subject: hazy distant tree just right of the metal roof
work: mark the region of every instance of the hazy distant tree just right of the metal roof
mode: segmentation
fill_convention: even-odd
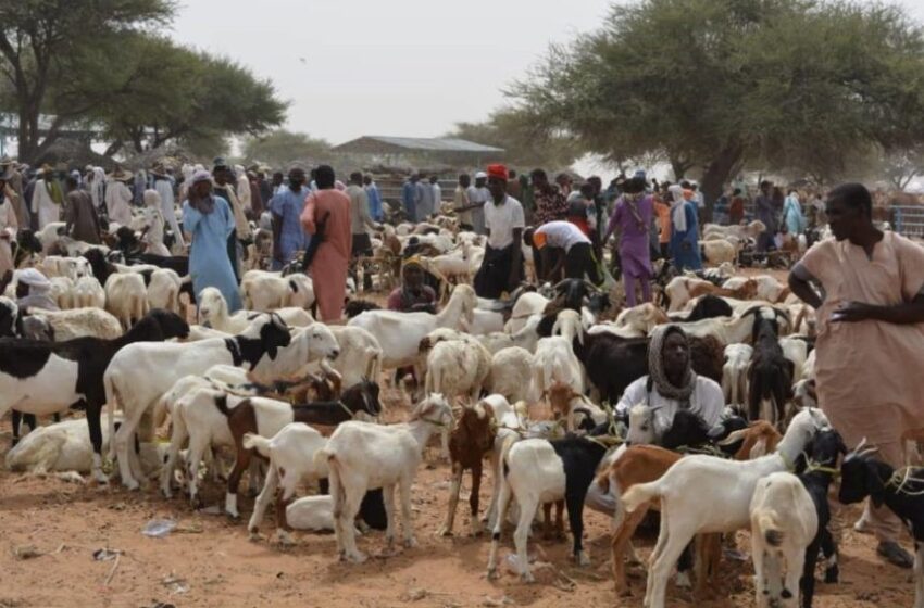
[[[519,167],[565,168],[580,151],[570,138],[546,131],[528,116],[501,110],[484,123],[458,123],[446,137],[504,149],[504,160]]]

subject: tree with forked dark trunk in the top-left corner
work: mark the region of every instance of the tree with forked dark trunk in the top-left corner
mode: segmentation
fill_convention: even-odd
[[[173,0],[0,0],[0,72],[11,85],[18,115],[20,156],[30,161],[40,155],[68,122],[102,100],[105,91],[100,89],[80,96],[82,103],[49,100],[57,83],[78,75],[75,60],[83,50],[103,48],[114,35],[165,23],[173,12]],[[107,59],[117,63],[118,55]],[[39,115],[50,105],[57,114],[42,138]]]

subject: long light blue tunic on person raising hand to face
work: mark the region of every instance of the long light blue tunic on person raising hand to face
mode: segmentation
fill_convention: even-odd
[[[189,275],[192,289],[198,296],[207,287],[222,292],[228,303],[228,312],[240,309],[240,294],[234,269],[228,258],[228,237],[234,232],[234,214],[230,205],[221,197],[213,197],[215,208],[203,215],[189,201],[183,203],[183,229],[192,235],[189,250]]]

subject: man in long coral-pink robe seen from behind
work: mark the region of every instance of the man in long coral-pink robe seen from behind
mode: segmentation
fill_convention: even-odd
[[[314,296],[323,322],[339,322],[347,295],[347,269],[350,263],[352,233],[350,229],[350,198],[335,189],[334,169],[317,167],[317,190],[305,199],[301,225],[312,235],[309,251],[316,248],[308,268],[314,282]]]

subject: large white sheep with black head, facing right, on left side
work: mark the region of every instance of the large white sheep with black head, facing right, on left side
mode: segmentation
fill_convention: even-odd
[[[269,314],[257,318],[247,331],[232,338],[202,340],[189,343],[129,344],[112,358],[103,376],[110,432],[113,432],[113,411],[121,405],[125,421],[113,433],[110,452],[118,455],[122,484],[137,490],[132,474],[129,440],[139,423],[150,418],[150,409],[164,392],[183,376],[202,373],[214,365],[248,365],[252,370],[263,355],[275,359],[280,347],[289,345],[291,335],[278,316]],[[148,425],[146,425],[147,427]],[[148,430],[148,429],[146,429]],[[130,452],[134,456],[134,451]]]

